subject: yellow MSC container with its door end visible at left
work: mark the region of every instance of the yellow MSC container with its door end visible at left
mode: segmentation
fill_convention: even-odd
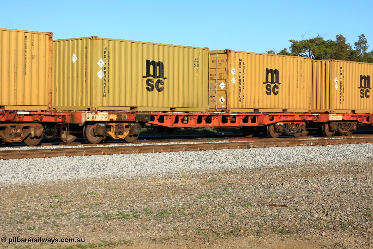
[[[209,109],[308,112],[311,59],[231,50],[210,51]]]

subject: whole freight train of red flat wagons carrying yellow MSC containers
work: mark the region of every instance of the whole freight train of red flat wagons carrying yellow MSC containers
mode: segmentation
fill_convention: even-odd
[[[0,28],[0,141],[134,142],[145,127],[308,129],[373,123],[373,64]]]

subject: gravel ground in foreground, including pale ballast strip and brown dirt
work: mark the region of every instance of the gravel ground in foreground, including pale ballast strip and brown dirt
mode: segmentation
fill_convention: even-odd
[[[373,248],[372,147],[2,160],[0,235],[85,238],[76,248]],[[70,244],[2,246],[15,245]]]

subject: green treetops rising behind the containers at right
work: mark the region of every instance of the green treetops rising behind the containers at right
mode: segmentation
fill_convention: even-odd
[[[339,34],[333,40],[324,40],[322,36],[309,39],[289,40],[289,48],[284,48],[280,52],[269,50],[269,54],[293,55],[302,57],[311,57],[313,60],[336,59],[343,61],[358,61],[373,63],[373,50],[367,52],[368,41],[364,34],[358,37],[352,49],[350,43],[342,34]]]

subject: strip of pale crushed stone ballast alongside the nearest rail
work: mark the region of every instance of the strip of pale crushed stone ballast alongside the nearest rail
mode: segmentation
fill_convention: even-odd
[[[114,146],[114,145],[113,145]],[[255,148],[0,161],[0,184],[35,183],[106,176],[154,176],[183,171],[248,169],[373,158],[373,144]]]

